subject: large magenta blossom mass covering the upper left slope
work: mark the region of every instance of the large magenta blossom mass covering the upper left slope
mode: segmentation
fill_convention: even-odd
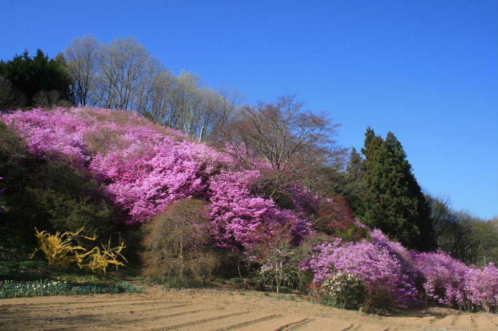
[[[203,198],[210,202],[212,234],[219,246],[250,247],[281,225],[289,226],[295,243],[311,231],[302,211],[282,209],[253,193],[261,191],[260,170],[271,168],[253,155],[246,156],[252,170],[242,171],[233,155],[189,141],[133,112],[38,108],[2,119],[26,139],[34,155],[67,160],[95,176],[128,214],[126,224],[144,223],[182,198]],[[306,203],[303,194],[295,198],[297,207]]]

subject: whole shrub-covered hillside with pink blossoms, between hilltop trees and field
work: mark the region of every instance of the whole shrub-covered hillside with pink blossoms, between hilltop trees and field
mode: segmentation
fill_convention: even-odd
[[[143,273],[159,283],[238,275],[349,309],[498,305],[492,263],[469,267],[440,250],[408,250],[352,216],[337,217],[341,200],[299,177],[269,194],[280,163],[247,154],[242,143],[217,149],[102,108],[37,108],[2,120],[2,227],[12,234],[2,245],[14,251],[2,259],[27,258],[34,228],[84,226],[87,236],[126,241],[125,253],[137,264],[141,256]],[[243,162],[234,157],[241,153]]]

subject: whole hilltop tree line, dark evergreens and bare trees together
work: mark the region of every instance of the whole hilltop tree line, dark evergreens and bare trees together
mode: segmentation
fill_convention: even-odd
[[[154,122],[205,139],[225,125],[243,96],[202,85],[198,75],[175,76],[134,38],[108,45],[91,35],[74,39],[49,59],[42,50],[0,62],[0,108],[56,105],[133,109]]]

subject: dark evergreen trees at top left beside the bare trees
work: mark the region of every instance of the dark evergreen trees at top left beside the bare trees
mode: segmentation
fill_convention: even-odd
[[[71,99],[71,79],[62,55],[49,59],[38,49],[36,56],[30,57],[25,50],[22,55],[16,54],[12,60],[0,61],[0,76],[21,91],[30,105],[34,105],[41,91],[56,91],[60,99]]]

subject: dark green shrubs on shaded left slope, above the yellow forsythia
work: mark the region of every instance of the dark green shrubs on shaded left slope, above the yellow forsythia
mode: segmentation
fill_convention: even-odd
[[[0,122],[0,260],[26,258],[36,242],[33,228],[109,237],[115,213],[97,182],[60,160],[32,156],[12,128]],[[77,239],[79,245],[87,243]],[[24,257],[23,257],[24,256]]]

